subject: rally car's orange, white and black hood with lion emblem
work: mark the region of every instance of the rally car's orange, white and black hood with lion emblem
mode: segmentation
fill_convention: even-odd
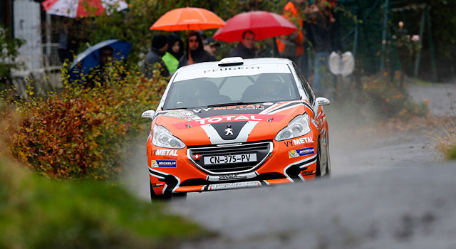
[[[166,127],[187,146],[274,139],[277,132],[306,112],[304,100],[157,112],[155,124]],[[313,115],[311,115],[313,116]]]

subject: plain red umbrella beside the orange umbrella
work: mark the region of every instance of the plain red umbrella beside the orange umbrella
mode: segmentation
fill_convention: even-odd
[[[275,36],[293,33],[298,28],[284,16],[266,11],[250,11],[229,18],[223,28],[214,34],[214,39],[229,43],[242,40],[242,33],[250,30],[255,33],[255,40],[261,41]]]

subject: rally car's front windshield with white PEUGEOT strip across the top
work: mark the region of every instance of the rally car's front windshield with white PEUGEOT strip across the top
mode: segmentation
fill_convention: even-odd
[[[293,75],[288,66],[280,66],[283,66],[280,70],[274,68],[267,70],[268,73],[254,70],[247,73],[217,72],[208,75],[211,77],[200,78],[177,75],[167,93],[164,110],[298,100]]]

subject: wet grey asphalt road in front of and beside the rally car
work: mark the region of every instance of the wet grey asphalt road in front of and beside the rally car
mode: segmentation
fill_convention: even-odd
[[[415,91],[434,101],[429,89]],[[219,233],[181,248],[456,248],[456,163],[435,162],[427,131],[353,137],[343,120],[328,120],[331,179],[171,201],[172,213]],[[145,169],[125,179],[149,198]]]

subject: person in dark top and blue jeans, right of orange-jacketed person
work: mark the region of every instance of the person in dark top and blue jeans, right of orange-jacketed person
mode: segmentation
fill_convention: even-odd
[[[331,34],[336,21],[329,9],[329,3],[324,0],[316,0],[310,7],[311,32],[314,36],[314,85],[316,92],[322,93],[321,78],[328,68],[329,53],[333,51]]]

